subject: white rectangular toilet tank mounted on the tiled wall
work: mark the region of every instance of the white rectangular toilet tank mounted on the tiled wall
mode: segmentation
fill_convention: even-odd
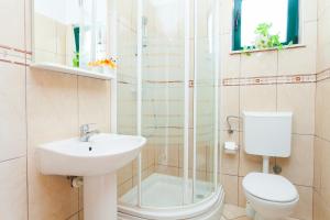
[[[288,157],[292,152],[292,112],[243,112],[248,154]]]

